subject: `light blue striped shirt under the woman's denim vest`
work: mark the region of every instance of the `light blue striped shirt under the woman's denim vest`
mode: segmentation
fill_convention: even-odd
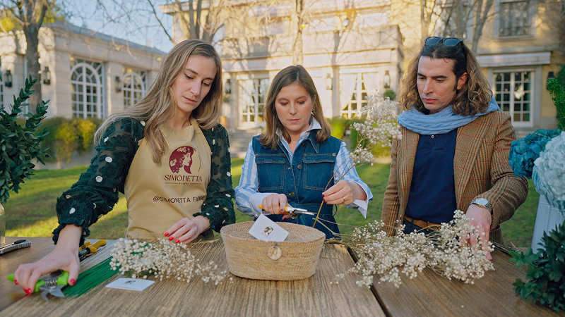
[[[309,128],[300,135],[295,149],[298,148],[300,143],[307,139],[311,130],[319,129],[321,129],[320,123],[316,119],[312,118],[312,123]],[[287,159],[292,162],[293,152],[290,150],[288,142],[281,137],[280,143],[283,145],[283,152],[287,156]],[[365,194],[367,194],[367,199],[357,199],[353,201],[352,204],[347,205],[347,207],[357,208],[359,212],[367,218],[367,205],[369,204],[369,201],[373,199],[373,194],[371,193],[369,186],[367,186],[367,184],[359,178],[357,170],[355,170],[355,166],[353,165],[354,163],[351,159],[350,151],[347,150],[345,142],[342,141],[338,155],[335,157],[335,165],[333,167],[333,175],[335,175],[334,182],[338,182],[340,175],[343,175],[343,178],[341,178],[342,180],[346,180],[347,182],[356,182],[359,186],[361,186]],[[263,198],[270,194],[273,193],[258,192],[257,164],[255,163],[253,140],[251,140],[251,142],[249,142],[249,147],[247,147],[245,160],[242,166],[242,177],[239,178],[239,185],[235,187],[235,204],[237,209],[243,213],[246,213],[249,216],[258,217],[261,214],[261,209],[258,205],[261,204]]]

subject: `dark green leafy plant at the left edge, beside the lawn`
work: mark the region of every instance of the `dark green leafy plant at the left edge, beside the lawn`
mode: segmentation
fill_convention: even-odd
[[[47,151],[41,147],[45,132],[35,133],[41,120],[47,113],[47,102],[41,101],[35,113],[25,115],[25,125],[18,124],[18,113],[21,106],[33,93],[31,87],[37,82],[31,76],[25,79],[18,97],[13,97],[13,106],[8,113],[4,106],[0,107],[0,203],[10,197],[9,191],[18,192],[24,178],[30,178],[35,165],[32,159],[43,163]]]

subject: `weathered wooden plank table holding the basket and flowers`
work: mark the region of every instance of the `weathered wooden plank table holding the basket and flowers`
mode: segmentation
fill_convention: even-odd
[[[17,240],[8,237],[7,242]],[[414,280],[403,278],[396,289],[390,284],[375,284],[371,290],[355,285],[350,276],[335,281],[335,273],[353,264],[345,247],[330,244],[322,251],[316,274],[296,281],[248,280],[233,276],[232,282],[206,284],[155,282],[143,292],[114,290],[99,285],[78,299],[51,298],[44,302],[39,294],[25,293],[5,276],[19,263],[40,259],[53,244],[48,238],[28,238],[32,247],[0,256],[1,316],[551,316],[549,309],[530,304],[514,295],[512,283],[523,272],[509,262],[509,256],[495,251],[497,271],[475,282],[441,278],[424,271]],[[113,242],[83,261],[86,270],[106,259]],[[210,260],[227,269],[221,242],[200,244],[191,251],[205,262]],[[111,279],[112,280],[112,279]]]

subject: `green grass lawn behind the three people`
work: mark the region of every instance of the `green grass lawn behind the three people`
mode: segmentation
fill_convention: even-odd
[[[242,173],[242,159],[232,161],[234,187]],[[6,208],[6,235],[19,237],[50,237],[57,226],[55,202],[65,189],[78,179],[85,166],[68,170],[37,170],[30,180],[26,180],[18,194],[11,194]],[[367,221],[381,218],[383,192],[388,180],[388,164],[361,166],[359,175],[369,184],[374,194],[369,204],[367,220],[354,209],[338,209],[336,219],[342,232],[350,232],[353,227]],[[514,217],[502,225],[504,241],[513,242],[516,247],[529,247],[532,239],[537,200],[540,195],[530,182],[528,200],[516,211]],[[251,220],[249,216],[236,211],[237,221]],[[124,236],[127,226],[126,201],[120,197],[114,211],[98,220],[90,227],[91,237],[115,239]]]

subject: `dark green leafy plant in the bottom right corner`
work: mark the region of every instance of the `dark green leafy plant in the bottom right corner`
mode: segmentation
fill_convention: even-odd
[[[511,261],[516,266],[526,266],[526,278],[516,280],[516,294],[554,311],[565,309],[565,222],[549,232],[544,232],[542,249],[534,254],[512,252]]]

